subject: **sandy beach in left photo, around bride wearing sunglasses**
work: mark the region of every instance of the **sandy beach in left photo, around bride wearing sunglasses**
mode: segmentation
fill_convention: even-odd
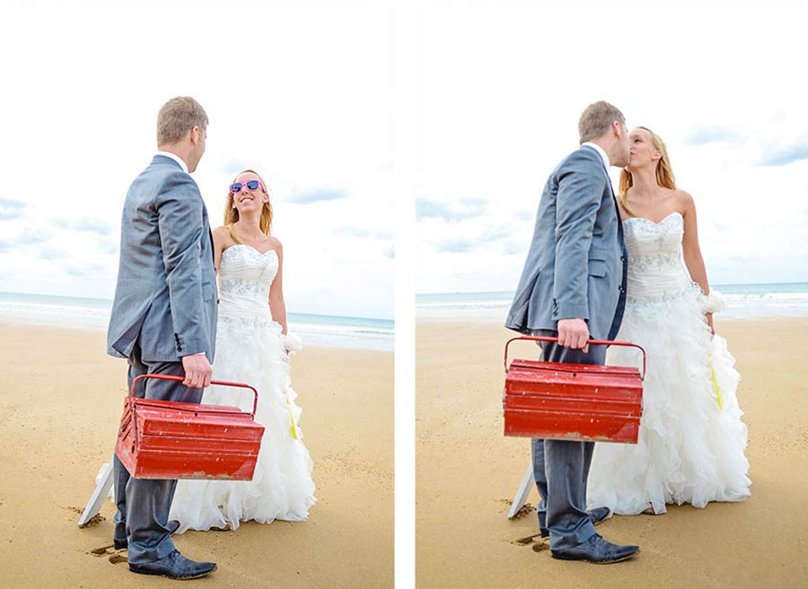
[[[130,573],[111,548],[111,502],[79,529],[79,512],[110,460],[126,394],[126,361],[105,334],[0,324],[0,585],[174,586]],[[175,536],[218,570],[209,587],[388,588],[393,585],[393,356],[306,349],[293,360],[317,505],[302,523],[242,524]],[[125,556],[125,553],[123,553]]]

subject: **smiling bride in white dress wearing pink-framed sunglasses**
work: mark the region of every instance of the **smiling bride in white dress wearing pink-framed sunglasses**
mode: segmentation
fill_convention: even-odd
[[[300,344],[286,333],[283,249],[269,235],[271,221],[264,181],[243,171],[231,185],[224,227],[214,231],[219,320],[213,377],[255,386],[255,420],[266,429],[252,481],[178,481],[171,519],[180,521],[180,533],[234,530],[248,520],[302,521],[314,505],[312,459],[303,446],[301,409],[289,377],[289,355]],[[253,396],[211,385],[202,403],[251,411]]]

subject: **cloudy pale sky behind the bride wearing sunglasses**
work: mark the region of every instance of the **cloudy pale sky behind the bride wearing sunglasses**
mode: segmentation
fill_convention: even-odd
[[[238,171],[267,181],[287,310],[392,317],[388,13],[221,4],[4,7],[0,290],[113,297],[127,187],[189,95],[212,226]]]

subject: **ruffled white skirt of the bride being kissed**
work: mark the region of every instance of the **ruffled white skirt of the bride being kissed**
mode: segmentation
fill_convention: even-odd
[[[660,514],[670,503],[705,507],[750,494],[740,376],[704,310],[697,285],[669,299],[627,303],[617,339],[648,355],[639,436],[637,445],[595,445],[588,507],[634,515],[650,505]],[[642,357],[613,346],[606,362],[641,367]]]

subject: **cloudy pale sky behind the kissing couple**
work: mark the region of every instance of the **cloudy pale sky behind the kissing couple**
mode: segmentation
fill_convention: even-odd
[[[417,292],[514,290],[596,100],[662,136],[710,282],[808,282],[805,4],[629,4],[423,13]]]

